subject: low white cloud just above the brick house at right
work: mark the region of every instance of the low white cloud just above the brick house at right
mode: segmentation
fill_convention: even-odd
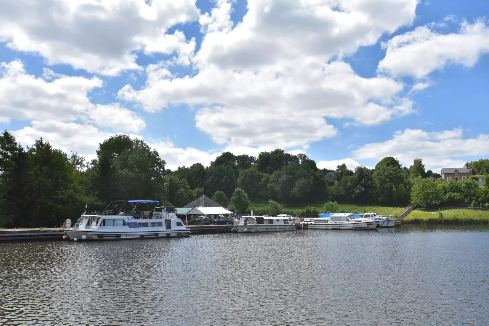
[[[352,153],[355,159],[392,156],[405,166],[414,159],[423,159],[426,169],[436,172],[442,167],[463,166],[464,157],[489,155],[489,134],[463,139],[461,128],[440,132],[405,129],[396,132],[391,140],[365,144]]]

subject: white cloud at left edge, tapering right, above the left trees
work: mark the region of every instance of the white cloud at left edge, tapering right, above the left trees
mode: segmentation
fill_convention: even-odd
[[[93,77],[70,77],[44,70],[44,78],[26,73],[15,60],[0,64],[0,118],[36,121],[76,121],[82,119],[115,131],[138,132],[146,127],[134,112],[118,103],[92,104],[88,93],[102,87]]]

